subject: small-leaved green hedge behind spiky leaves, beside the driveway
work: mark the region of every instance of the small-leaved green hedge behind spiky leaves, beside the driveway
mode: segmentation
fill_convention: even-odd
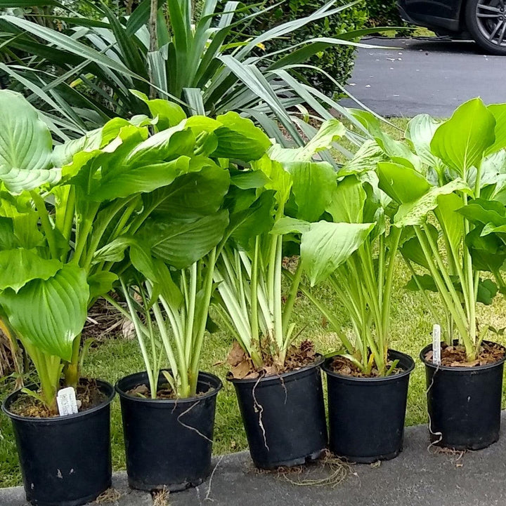
[[[345,0],[338,0],[336,5],[345,5],[346,3],[348,2]],[[278,0],[266,0],[265,6],[274,4],[278,4]],[[304,18],[324,4],[325,1],[323,0],[285,0],[277,8],[259,15],[250,29],[252,30],[252,34],[262,33],[281,22]],[[368,12],[364,1],[361,4],[344,9],[344,11],[337,15],[309,23],[295,34],[292,34],[290,38],[278,39],[275,44],[271,42],[265,49],[267,53],[271,53],[272,51],[297,44],[297,42],[307,39],[334,37],[354,29],[361,29],[367,25],[367,22]],[[351,75],[354,55],[355,51],[351,46],[333,46],[311,58],[308,64],[325,70],[325,72],[344,85]],[[335,84],[316,70],[301,69],[300,74],[309,84],[326,95],[335,95],[338,92]]]

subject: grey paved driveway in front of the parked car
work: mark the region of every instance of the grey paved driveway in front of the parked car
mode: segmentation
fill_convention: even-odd
[[[470,42],[368,39],[381,49],[360,48],[347,89],[382,116],[422,112],[448,117],[460,103],[480,96],[506,102],[506,56],[488,56]],[[358,107],[342,100],[346,107]]]

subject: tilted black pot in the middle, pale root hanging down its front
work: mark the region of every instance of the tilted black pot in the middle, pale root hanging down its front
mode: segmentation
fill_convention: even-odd
[[[259,380],[231,378],[249,453],[261,469],[301,465],[327,446],[320,365]]]

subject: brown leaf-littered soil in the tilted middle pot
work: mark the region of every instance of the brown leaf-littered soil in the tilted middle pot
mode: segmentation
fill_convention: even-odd
[[[240,344],[235,341],[227,359],[227,363],[231,366],[228,377],[236,380],[254,380],[264,376],[277,376],[311,366],[319,358],[320,355],[315,352],[313,342],[302,341],[299,346],[291,346],[288,349],[285,364],[276,364],[272,355],[263,351],[264,367],[258,369],[253,365],[252,359],[247,356]]]

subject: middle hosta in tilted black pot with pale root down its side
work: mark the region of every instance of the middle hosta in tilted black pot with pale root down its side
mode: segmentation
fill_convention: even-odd
[[[344,133],[324,124],[304,148],[282,149],[233,174],[227,204],[234,231],[216,265],[216,311],[235,336],[228,375],[238,396],[249,451],[257,467],[300,465],[327,444],[318,355],[298,337],[291,314],[301,279],[297,268],[283,298],[283,251],[289,240],[276,224],[286,213],[316,220],[330,201],[335,168],[314,161]]]

